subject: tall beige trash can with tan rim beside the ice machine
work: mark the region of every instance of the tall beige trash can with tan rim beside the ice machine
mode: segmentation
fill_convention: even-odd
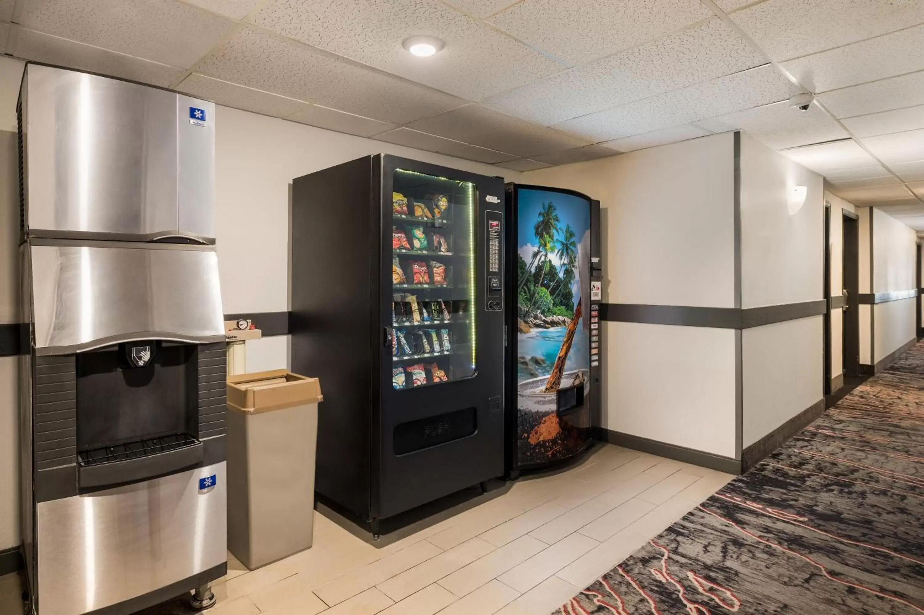
[[[228,549],[251,570],[311,546],[321,400],[284,369],[228,376]]]

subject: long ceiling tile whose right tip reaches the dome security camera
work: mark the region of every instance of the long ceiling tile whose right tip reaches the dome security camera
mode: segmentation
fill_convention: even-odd
[[[612,141],[653,130],[722,116],[752,106],[788,99],[796,87],[771,65],[667,92],[584,117],[565,120],[554,128]]]

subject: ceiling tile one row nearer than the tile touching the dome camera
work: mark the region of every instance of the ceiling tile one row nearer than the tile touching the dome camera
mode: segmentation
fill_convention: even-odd
[[[621,54],[497,94],[485,104],[548,125],[763,63],[763,57],[735,31],[712,18]]]

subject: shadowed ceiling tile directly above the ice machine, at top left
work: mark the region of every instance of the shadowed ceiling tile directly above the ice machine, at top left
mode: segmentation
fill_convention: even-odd
[[[25,60],[89,70],[162,87],[172,85],[183,76],[183,71],[178,68],[25,28],[19,29],[12,54]]]

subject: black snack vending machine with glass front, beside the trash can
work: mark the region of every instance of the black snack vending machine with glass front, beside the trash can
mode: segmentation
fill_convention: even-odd
[[[504,474],[501,178],[386,154],[292,184],[292,370],[316,490],[379,520]]]

